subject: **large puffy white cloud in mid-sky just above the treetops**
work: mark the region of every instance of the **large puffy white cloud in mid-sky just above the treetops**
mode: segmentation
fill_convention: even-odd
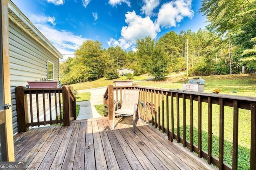
[[[137,39],[151,36],[154,39],[160,31],[159,27],[150,20],[149,17],[142,18],[133,12],[127,12],[125,22],[128,26],[122,27],[121,38],[116,40],[111,38],[109,46],[120,46],[123,49],[134,49]]]

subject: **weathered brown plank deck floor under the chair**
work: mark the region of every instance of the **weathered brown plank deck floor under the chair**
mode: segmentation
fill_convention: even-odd
[[[116,119],[116,122],[120,119]],[[151,125],[132,119],[113,131],[106,118],[30,129],[14,136],[15,161],[27,169],[214,169]]]

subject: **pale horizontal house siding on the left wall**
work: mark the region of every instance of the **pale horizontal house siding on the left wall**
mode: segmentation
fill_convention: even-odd
[[[59,80],[59,60],[12,20],[9,20],[9,43],[12,120],[15,134],[18,132],[15,87],[26,86],[27,81],[47,78],[47,60],[54,63],[54,80]]]

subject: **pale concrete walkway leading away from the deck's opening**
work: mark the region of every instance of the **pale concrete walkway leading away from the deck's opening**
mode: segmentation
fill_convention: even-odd
[[[80,111],[76,120],[102,117],[94,106],[103,104],[103,95],[106,92],[106,88],[107,87],[105,86],[100,88],[78,90],[78,93],[90,92],[91,97],[90,101],[76,102],[76,104],[80,105]]]

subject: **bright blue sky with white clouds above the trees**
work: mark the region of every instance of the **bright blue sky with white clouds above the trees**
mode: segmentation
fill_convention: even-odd
[[[12,0],[39,31],[63,54],[87,39],[103,48],[119,45],[136,50],[136,40],[181,30],[198,31],[206,18],[198,13],[201,0]],[[68,55],[67,55],[68,54]]]

